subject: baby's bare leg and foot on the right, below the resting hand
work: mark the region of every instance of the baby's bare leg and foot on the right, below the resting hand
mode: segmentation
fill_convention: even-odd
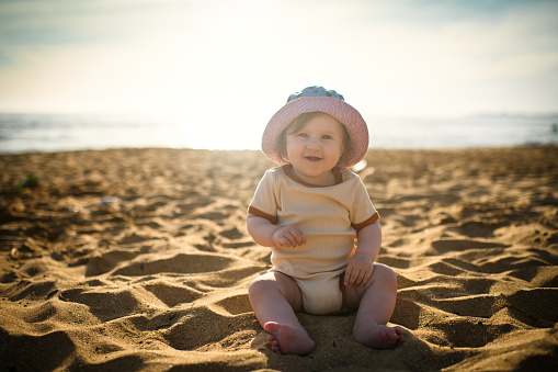
[[[403,330],[386,324],[394,314],[397,296],[397,278],[390,268],[374,264],[367,289],[346,288],[348,303],[360,297],[358,312],[353,327],[354,338],[373,349],[386,349],[402,341]]]

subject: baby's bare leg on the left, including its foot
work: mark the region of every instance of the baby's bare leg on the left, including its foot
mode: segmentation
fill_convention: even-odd
[[[248,293],[258,322],[271,334],[267,339],[274,352],[304,356],[314,350],[314,340],[295,315],[303,297],[292,278],[267,272],[254,279]]]

